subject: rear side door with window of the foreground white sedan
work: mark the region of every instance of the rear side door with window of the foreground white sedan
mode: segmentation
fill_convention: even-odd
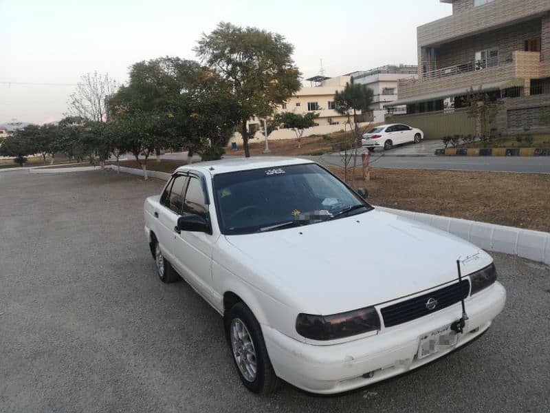
[[[175,226],[177,218],[181,215],[184,206],[184,190],[186,188],[188,177],[185,174],[178,173],[174,176],[170,186],[170,191],[166,197],[161,199],[162,207],[158,211],[159,221],[159,244],[164,256],[179,272],[177,265],[177,256],[175,254]]]

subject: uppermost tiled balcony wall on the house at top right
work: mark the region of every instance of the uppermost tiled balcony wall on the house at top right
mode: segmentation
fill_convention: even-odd
[[[464,12],[443,17],[417,29],[419,47],[473,36],[510,24],[542,17],[550,10],[548,0],[496,0]]]

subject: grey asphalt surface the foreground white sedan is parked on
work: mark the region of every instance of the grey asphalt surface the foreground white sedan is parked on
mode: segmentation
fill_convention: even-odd
[[[1,412],[550,411],[550,270],[506,255],[505,312],[460,352],[342,396],[250,394],[221,317],[155,275],[142,203],[163,184],[0,174]]]

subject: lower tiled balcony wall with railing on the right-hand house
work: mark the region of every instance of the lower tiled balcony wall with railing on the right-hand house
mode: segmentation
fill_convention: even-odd
[[[395,103],[405,105],[408,102],[404,100],[423,96],[429,97],[426,100],[456,96],[470,87],[476,89],[481,85],[494,89],[507,87],[507,84],[522,86],[524,79],[540,77],[540,53],[516,51],[509,56],[500,56],[500,61],[494,63],[471,61],[426,72],[419,79],[400,79],[399,99]]]

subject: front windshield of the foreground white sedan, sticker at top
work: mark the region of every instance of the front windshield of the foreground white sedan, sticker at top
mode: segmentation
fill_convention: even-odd
[[[316,164],[214,176],[221,231],[276,231],[370,211],[372,207]]]

